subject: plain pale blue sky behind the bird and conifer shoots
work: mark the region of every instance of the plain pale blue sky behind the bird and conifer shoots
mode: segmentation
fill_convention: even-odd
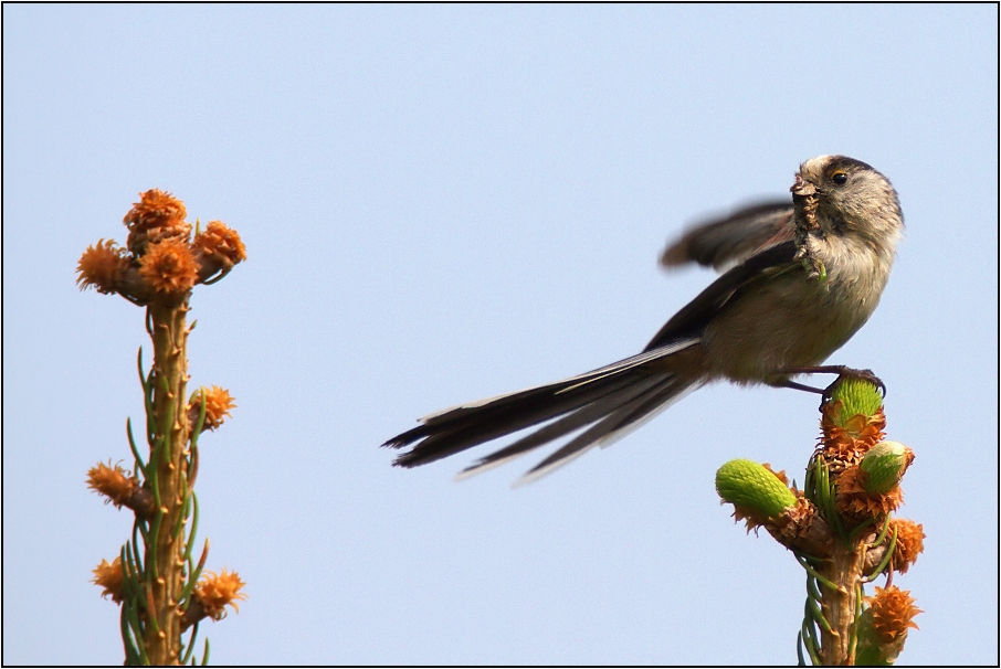
[[[127,513],[84,477],[141,416],[143,312],[74,285],[139,191],[239,230],[192,384],[224,663],[790,663],[804,576],[716,469],[802,480],[816,399],[713,386],[512,490],[485,450],[378,446],[432,411],[639,351],[710,279],[706,212],[865,160],[907,220],[831,361],[889,386],[926,552],[908,663],[998,661],[997,6],[3,7],[3,661],[120,663],[88,583]]]

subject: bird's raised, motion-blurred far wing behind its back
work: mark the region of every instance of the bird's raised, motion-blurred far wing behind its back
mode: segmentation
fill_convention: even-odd
[[[665,267],[698,263],[723,270],[769,246],[792,240],[792,203],[771,201],[746,206],[686,232],[661,255]]]

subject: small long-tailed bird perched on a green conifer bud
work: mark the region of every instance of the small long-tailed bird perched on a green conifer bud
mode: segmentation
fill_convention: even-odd
[[[721,275],[677,311],[638,354],[420,420],[383,444],[410,447],[411,468],[537,427],[461,470],[478,474],[573,435],[529,469],[529,482],[608,446],[688,392],[715,381],[826,392],[793,381],[870,370],[821,365],[868,320],[904,230],[899,199],[872,166],[845,156],[800,164],[789,200],[745,206],[668,244],[661,264],[712,266]],[[835,381],[836,383],[836,381]],[[577,434],[573,434],[577,433]]]

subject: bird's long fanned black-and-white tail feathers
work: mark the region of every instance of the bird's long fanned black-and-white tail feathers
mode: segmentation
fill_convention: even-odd
[[[674,341],[565,381],[449,408],[421,418],[421,425],[383,446],[413,444],[393,464],[417,467],[549,422],[462,470],[460,477],[466,477],[583,429],[531,468],[520,481],[527,482],[596,446],[611,444],[699,385],[698,380],[678,375],[666,360],[698,343],[698,339]]]

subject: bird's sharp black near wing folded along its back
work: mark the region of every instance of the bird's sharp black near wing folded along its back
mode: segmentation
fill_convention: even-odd
[[[706,326],[726,308],[734,295],[741,288],[766,276],[799,267],[795,263],[795,243],[781,242],[767,246],[747,258],[699,293],[695,299],[682,307],[661,331],[646,344],[644,351],[652,351],[665,343],[693,337],[702,337]]]

